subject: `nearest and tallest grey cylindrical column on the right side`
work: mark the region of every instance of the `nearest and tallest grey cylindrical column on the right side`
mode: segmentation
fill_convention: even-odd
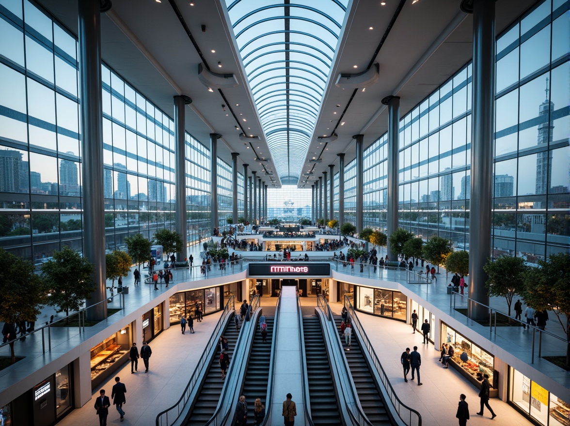
[[[495,1],[473,2],[473,106],[471,110],[471,198],[469,297],[489,304],[483,265],[491,255],[493,136],[495,117]],[[488,309],[469,302],[467,316],[483,319]]]

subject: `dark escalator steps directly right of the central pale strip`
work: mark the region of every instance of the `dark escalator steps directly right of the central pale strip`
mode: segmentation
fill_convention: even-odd
[[[303,338],[311,420],[315,425],[342,425],[327,348],[319,318],[303,317]]]

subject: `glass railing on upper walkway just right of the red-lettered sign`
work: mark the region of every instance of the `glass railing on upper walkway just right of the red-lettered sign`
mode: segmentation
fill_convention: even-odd
[[[379,278],[380,280],[405,281],[407,284],[431,284],[432,280],[423,271],[401,267],[387,267],[370,263],[349,262],[332,259],[338,272],[359,277]]]

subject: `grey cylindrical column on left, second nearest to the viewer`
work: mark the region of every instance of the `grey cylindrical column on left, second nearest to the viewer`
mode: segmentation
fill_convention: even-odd
[[[176,191],[176,204],[174,210],[174,222],[176,232],[182,238],[180,252],[176,253],[178,260],[184,260],[186,245],[188,244],[188,231],[186,226],[186,138],[185,138],[185,105],[191,102],[188,96],[174,96],[174,182]]]

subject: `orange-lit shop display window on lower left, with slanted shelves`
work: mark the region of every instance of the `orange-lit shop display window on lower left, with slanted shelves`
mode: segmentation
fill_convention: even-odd
[[[127,361],[132,341],[132,326],[129,325],[91,348],[92,389],[103,383]]]

